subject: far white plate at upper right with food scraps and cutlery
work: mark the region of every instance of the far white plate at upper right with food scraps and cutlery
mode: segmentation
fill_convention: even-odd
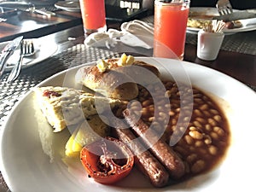
[[[236,9],[234,11],[237,11]],[[251,11],[254,11],[252,9]],[[254,13],[254,12],[253,12]],[[216,8],[202,7],[197,8],[193,7],[189,9],[189,20],[212,20],[214,16],[218,16],[218,11]],[[224,29],[226,35],[234,34],[236,32],[249,32],[256,30],[256,18],[238,20],[240,22],[240,27],[233,29]],[[188,26],[187,32],[197,34],[200,28],[194,26]]]

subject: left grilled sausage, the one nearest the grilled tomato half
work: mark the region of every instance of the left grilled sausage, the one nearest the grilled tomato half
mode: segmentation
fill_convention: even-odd
[[[132,131],[128,128],[124,129],[125,125],[114,123],[115,133],[119,139],[127,144],[132,152],[136,154],[135,162],[137,167],[144,175],[146,175],[154,187],[164,187],[168,183],[169,174],[165,167],[145,149]]]

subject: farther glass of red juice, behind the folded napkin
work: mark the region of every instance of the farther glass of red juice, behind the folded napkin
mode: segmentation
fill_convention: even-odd
[[[105,32],[106,13],[104,0],[79,0],[84,25],[84,34]]]

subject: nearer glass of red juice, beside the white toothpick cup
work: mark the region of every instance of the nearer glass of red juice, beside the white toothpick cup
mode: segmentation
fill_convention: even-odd
[[[154,1],[154,56],[183,60],[189,0]]]

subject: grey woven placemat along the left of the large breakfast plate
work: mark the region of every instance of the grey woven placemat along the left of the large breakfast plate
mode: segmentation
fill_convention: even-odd
[[[70,67],[119,56],[118,53],[107,49],[85,48],[84,44],[77,44],[46,61],[21,70],[19,78],[11,84],[6,82],[9,73],[5,73],[0,80],[0,129],[15,103],[44,79]]]

